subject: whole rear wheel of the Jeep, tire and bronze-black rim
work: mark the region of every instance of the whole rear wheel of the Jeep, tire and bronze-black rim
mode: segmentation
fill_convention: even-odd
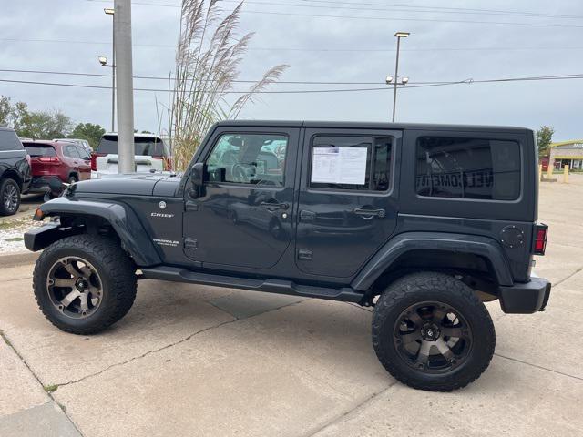
[[[397,279],[374,309],[374,351],[394,378],[415,389],[465,387],[486,370],[495,344],[484,304],[443,273]]]

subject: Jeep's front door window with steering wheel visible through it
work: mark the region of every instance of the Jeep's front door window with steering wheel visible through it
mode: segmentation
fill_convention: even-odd
[[[211,182],[283,186],[288,138],[272,134],[224,134],[210,152]]]

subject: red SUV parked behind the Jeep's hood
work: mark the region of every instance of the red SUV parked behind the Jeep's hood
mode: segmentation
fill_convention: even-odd
[[[31,190],[45,190],[51,178],[66,183],[91,178],[91,157],[81,146],[65,141],[25,141],[31,157]]]

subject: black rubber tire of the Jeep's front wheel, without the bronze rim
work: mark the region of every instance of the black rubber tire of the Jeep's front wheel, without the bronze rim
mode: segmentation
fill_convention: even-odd
[[[64,257],[87,259],[102,281],[102,301],[85,319],[72,319],[56,309],[48,294],[47,275]],[[96,334],[123,318],[136,299],[136,265],[113,239],[87,234],[60,239],[36,260],[33,289],[38,307],[58,329],[77,335]]]

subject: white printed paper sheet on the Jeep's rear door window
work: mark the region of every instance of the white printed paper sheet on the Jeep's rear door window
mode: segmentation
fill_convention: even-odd
[[[313,147],[312,183],[364,185],[366,147]]]

